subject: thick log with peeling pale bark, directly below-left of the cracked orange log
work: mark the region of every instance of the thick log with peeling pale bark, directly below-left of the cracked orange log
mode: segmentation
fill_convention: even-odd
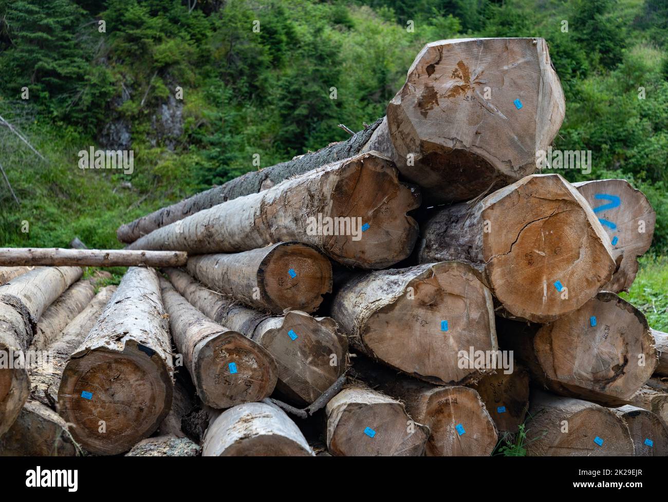
[[[492,295],[466,264],[359,274],[341,287],[331,314],[357,350],[413,377],[446,385],[494,371],[468,360],[497,346]]]

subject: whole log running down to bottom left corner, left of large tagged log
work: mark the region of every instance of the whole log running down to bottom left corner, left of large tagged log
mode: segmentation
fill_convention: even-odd
[[[60,378],[67,358],[86,338],[115,290],[116,286],[100,289],[57,338],[43,347],[49,360],[47,364],[31,366],[30,397],[9,431],[0,437],[0,455],[65,457],[78,453],[69,428],[54,411]]]

